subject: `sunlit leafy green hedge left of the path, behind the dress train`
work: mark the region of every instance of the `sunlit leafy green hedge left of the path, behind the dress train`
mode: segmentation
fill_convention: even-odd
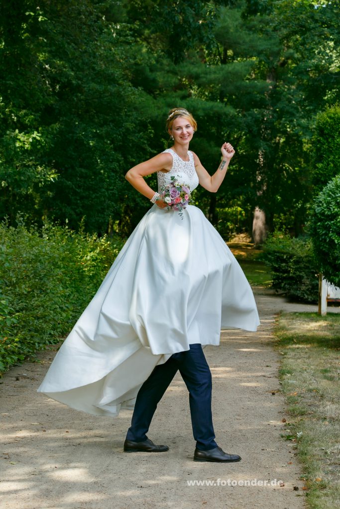
[[[71,330],[122,246],[22,219],[0,224],[0,373]]]

